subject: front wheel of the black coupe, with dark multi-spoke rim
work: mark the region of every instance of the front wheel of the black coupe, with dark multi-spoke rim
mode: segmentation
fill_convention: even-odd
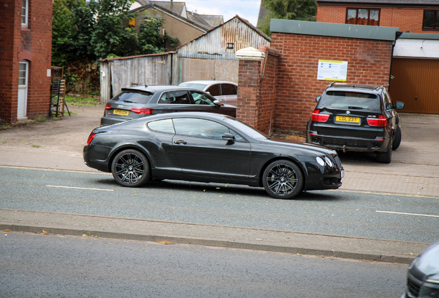
[[[292,199],[302,191],[304,178],[299,166],[287,160],[270,163],[262,175],[265,191],[276,199]]]

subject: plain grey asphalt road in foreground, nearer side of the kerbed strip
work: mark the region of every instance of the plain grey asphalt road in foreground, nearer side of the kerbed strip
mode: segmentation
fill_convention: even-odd
[[[0,297],[400,297],[407,265],[2,232]]]

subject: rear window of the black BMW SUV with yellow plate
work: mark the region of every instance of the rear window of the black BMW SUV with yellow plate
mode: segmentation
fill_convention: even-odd
[[[319,108],[380,110],[378,95],[362,92],[327,91],[318,103]]]

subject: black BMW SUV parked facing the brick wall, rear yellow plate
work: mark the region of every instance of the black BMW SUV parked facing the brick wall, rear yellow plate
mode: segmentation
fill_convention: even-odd
[[[306,127],[306,141],[346,152],[376,152],[377,161],[390,163],[400,146],[400,118],[383,86],[331,83]]]

